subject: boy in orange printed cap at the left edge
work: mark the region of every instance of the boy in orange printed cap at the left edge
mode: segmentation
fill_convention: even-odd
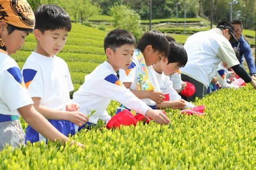
[[[35,16],[27,1],[5,0],[0,2],[0,150],[6,144],[18,147],[24,144],[24,132],[19,122],[24,120],[50,140],[69,139],[56,130],[33,106],[17,63],[9,56],[25,44],[32,32]],[[26,7],[25,13],[13,11],[12,5]],[[28,18],[25,18],[28,16]],[[25,21],[27,24],[25,24]],[[82,146],[80,143],[77,143]]]

